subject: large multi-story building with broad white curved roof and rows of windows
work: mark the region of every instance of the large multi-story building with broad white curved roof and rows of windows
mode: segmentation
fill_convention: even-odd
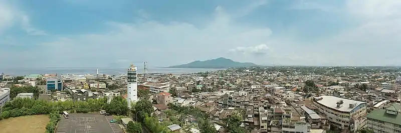
[[[350,129],[353,133],[366,123],[366,102],[355,101],[334,96],[313,98],[313,104],[327,120],[339,129]]]

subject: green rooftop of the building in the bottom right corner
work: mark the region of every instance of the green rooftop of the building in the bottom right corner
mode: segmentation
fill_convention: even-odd
[[[392,123],[392,124],[397,124],[401,125],[401,114],[399,112],[399,109],[401,109],[401,105],[399,104],[392,104],[386,109],[378,109],[378,110],[373,110],[371,113],[366,115],[366,118],[374,119],[374,120],[379,120],[387,123]],[[393,114],[388,114],[386,111],[395,111],[395,115]]]

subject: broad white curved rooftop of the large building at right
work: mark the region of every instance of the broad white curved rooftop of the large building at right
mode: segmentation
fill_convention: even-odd
[[[351,100],[351,99],[339,98],[339,97],[334,97],[334,96],[320,96],[320,97],[315,97],[315,99],[320,99],[320,100],[316,100],[316,102],[319,104],[322,104],[333,110],[342,111],[342,112],[351,112],[353,109],[358,107],[360,104],[366,104],[366,102],[355,101],[355,100]],[[337,107],[337,102],[339,102],[339,101],[342,101],[342,104],[340,107]],[[350,106],[350,105],[353,105],[353,106]]]

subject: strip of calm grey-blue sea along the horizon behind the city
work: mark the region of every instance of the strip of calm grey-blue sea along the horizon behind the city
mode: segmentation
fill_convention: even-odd
[[[107,75],[121,75],[127,73],[127,68],[6,68],[0,69],[0,73],[5,75],[13,76],[24,76],[29,74],[92,74],[95,75],[99,70],[99,74]],[[144,72],[143,68],[137,68],[138,73]],[[187,74],[187,73],[197,73],[197,72],[211,72],[221,69],[189,69],[189,68],[148,68],[148,73],[172,73],[172,74]]]

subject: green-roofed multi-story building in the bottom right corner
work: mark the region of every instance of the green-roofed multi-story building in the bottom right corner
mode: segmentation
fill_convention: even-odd
[[[401,133],[401,105],[373,110],[366,115],[366,128],[374,133]]]

